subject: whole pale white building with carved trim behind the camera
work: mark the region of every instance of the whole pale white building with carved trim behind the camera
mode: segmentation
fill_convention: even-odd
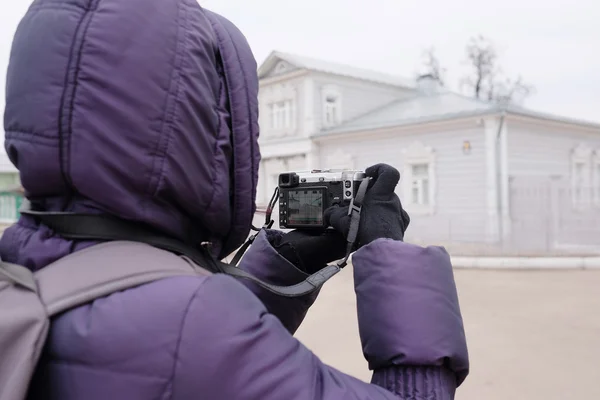
[[[600,124],[281,52],[259,77],[259,205],[282,171],[384,162],[402,173],[412,241],[477,253],[600,249]]]

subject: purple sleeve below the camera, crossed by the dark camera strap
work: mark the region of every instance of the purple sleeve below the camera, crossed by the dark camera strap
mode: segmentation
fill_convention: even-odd
[[[279,286],[291,286],[302,282],[308,275],[283,258],[270,242],[283,233],[276,230],[263,230],[248,249],[239,267],[252,273],[264,282]],[[302,297],[281,297],[248,280],[240,280],[269,313],[275,315],[292,334],[296,332],[310,306],[315,302],[318,291]]]

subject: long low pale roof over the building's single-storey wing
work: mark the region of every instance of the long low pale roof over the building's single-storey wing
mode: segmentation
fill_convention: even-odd
[[[483,116],[501,112],[600,129],[600,124],[598,123],[563,118],[553,114],[528,110],[519,106],[487,103],[458,93],[444,91],[434,95],[417,93],[409,99],[396,100],[386,106],[347,121],[340,126],[323,130],[315,136],[391,128],[394,126]]]

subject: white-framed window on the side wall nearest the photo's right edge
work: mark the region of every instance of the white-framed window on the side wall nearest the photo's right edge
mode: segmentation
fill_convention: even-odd
[[[571,155],[571,200],[577,208],[590,204],[592,198],[592,149],[580,144]]]

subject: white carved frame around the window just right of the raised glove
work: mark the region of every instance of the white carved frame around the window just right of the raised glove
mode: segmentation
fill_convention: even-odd
[[[404,181],[402,204],[409,213],[418,215],[431,215],[436,210],[436,154],[433,148],[423,145],[421,142],[413,142],[408,148],[402,151],[403,155],[403,173],[402,180]],[[428,204],[415,203],[413,200],[413,190],[415,177],[413,168],[418,165],[427,165],[427,187],[428,187]],[[423,196],[424,190],[419,188],[419,197]]]

